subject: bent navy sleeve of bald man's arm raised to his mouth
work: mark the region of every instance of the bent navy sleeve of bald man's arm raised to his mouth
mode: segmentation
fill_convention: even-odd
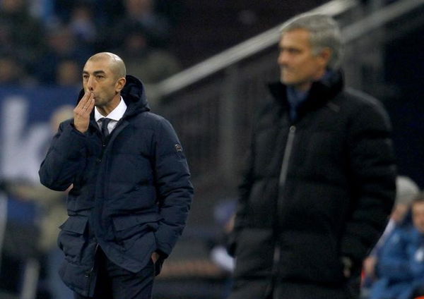
[[[42,185],[57,191],[69,188],[84,167],[85,144],[86,135],[76,130],[71,121],[61,123],[38,171]]]

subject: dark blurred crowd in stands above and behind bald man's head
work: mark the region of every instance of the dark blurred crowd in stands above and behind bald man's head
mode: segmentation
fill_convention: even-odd
[[[156,83],[180,70],[167,49],[181,1],[0,0],[0,85],[80,86],[87,57],[113,51]]]

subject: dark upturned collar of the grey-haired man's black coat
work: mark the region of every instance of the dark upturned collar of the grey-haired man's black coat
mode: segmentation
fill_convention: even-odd
[[[330,71],[322,80],[312,83],[307,99],[300,104],[298,108],[299,114],[304,114],[306,111],[314,110],[320,106],[324,106],[327,102],[333,99],[336,94],[341,92],[344,87],[343,72]],[[274,99],[284,106],[289,106],[287,100],[287,86],[281,82],[269,84],[269,90]]]

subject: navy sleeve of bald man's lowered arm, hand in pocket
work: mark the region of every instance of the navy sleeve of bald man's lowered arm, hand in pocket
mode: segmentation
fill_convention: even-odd
[[[167,257],[186,225],[193,186],[177,134],[165,119],[160,121],[155,134],[154,171],[162,216],[155,237],[158,252]]]

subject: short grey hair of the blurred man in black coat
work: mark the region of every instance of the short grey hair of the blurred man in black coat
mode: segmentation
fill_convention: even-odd
[[[295,29],[305,29],[310,32],[310,43],[314,55],[319,54],[324,48],[331,49],[328,68],[335,70],[340,67],[343,46],[340,28],[334,18],[322,13],[302,13],[281,25],[281,36]]]

